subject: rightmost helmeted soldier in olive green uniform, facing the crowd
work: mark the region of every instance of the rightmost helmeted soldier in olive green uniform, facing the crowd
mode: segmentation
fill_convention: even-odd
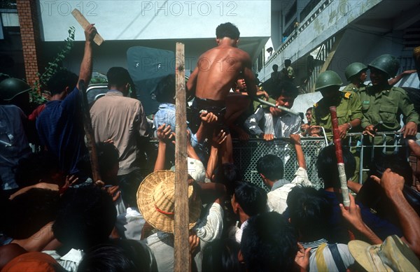
[[[381,55],[369,64],[372,86],[359,90],[365,134],[374,136],[377,131],[398,131],[401,129],[402,114],[405,120],[401,129],[404,138],[416,135],[419,114],[414,110],[413,103],[405,90],[388,84],[388,78],[395,77],[399,68],[400,63],[392,55]],[[374,139],[375,144],[381,142],[379,137]]]

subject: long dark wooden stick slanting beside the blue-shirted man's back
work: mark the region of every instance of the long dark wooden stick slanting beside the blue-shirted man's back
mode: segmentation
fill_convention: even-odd
[[[94,141],[94,134],[92,129],[92,121],[90,120],[90,111],[89,105],[87,104],[86,96],[86,85],[85,80],[80,80],[78,83],[80,88],[79,95],[81,97],[81,109],[83,115],[83,128],[85,129],[86,135],[86,148],[89,152],[90,157],[90,166],[92,167],[92,179],[93,182],[101,180],[101,175],[99,174],[99,162],[98,162],[98,153],[96,150],[96,142]]]

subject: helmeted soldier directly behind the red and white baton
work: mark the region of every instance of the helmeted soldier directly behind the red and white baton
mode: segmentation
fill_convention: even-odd
[[[358,94],[340,92],[342,80],[334,71],[325,71],[316,78],[315,90],[321,92],[323,99],[314,104],[312,109],[309,134],[317,136],[319,127],[325,129],[328,140],[332,140],[330,106],[337,107],[338,129],[340,138],[346,138],[347,131],[358,127],[363,117]]]

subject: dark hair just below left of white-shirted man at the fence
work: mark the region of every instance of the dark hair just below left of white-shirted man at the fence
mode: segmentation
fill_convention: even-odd
[[[248,182],[240,182],[235,188],[235,200],[249,216],[258,215],[267,210],[265,191]]]

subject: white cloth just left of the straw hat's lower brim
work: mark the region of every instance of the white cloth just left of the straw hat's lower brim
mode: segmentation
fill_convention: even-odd
[[[139,213],[139,209],[127,208],[127,213],[117,216],[116,229],[118,234],[126,239],[140,241],[141,230],[143,229],[144,223],[143,215]]]

